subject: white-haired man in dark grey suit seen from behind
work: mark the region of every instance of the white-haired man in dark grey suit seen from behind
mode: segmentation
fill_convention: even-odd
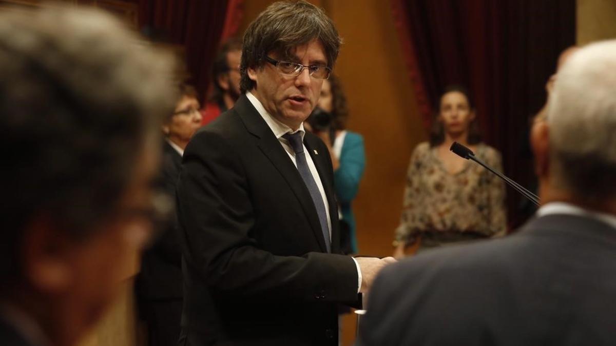
[[[536,217],[386,268],[359,344],[615,345],[615,90],[616,41],[573,53],[531,132]]]

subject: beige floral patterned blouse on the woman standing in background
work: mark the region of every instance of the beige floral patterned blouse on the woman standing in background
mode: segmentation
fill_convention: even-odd
[[[502,171],[501,155],[479,143],[475,155]],[[454,155],[452,153],[452,155]],[[395,239],[407,241],[426,231],[472,231],[486,236],[504,231],[505,183],[468,160],[451,174],[437,156],[437,147],[420,143],[411,155],[400,226]]]

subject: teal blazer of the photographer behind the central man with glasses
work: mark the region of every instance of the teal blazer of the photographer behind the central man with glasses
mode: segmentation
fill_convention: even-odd
[[[359,181],[362,179],[366,166],[366,155],[363,151],[363,137],[355,132],[347,131],[342,142],[340,166],[334,171],[334,189],[340,204],[342,220],[351,227],[351,246],[357,253],[357,237],[355,236],[355,217],[351,209],[351,201],[357,195]]]

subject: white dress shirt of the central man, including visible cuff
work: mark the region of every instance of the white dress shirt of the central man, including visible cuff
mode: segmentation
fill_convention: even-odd
[[[299,125],[299,129],[297,131],[293,131],[291,127],[288,127],[283,123],[280,123],[280,121],[278,121],[272,115],[270,115],[270,113],[268,113],[267,110],[265,110],[265,108],[261,104],[261,101],[259,101],[259,99],[257,99],[256,96],[254,96],[251,92],[246,92],[246,97],[248,97],[248,100],[250,101],[250,103],[252,103],[254,108],[257,110],[257,112],[259,112],[259,115],[262,116],[265,123],[267,123],[267,126],[269,126],[269,128],[272,130],[272,132],[278,139],[278,142],[280,142],[280,145],[282,145],[286,153],[289,155],[289,158],[291,158],[291,161],[293,161],[293,164],[295,165],[295,167],[297,167],[298,164],[295,159],[295,151],[289,144],[289,141],[283,138],[282,136],[287,133],[294,134],[295,132],[300,132],[302,135],[302,142],[303,142],[304,134],[306,134],[306,131],[304,131],[304,123]],[[327,196],[325,195],[325,189],[323,188],[323,183],[321,182],[321,178],[318,175],[317,167],[314,165],[314,162],[312,161],[312,157],[308,155],[307,153],[308,153],[308,149],[306,148],[306,145],[304,145],[304,155],[306,156],[306,162],[308,163],[310,174],[312,174],[312,177],[314,178],[315,183],[317,183],[318,191],[321,193],[321,198],[323,199],[323,204],[325,205],[325,211],[327,213],[327,226],[330,231],[330,242],[331,242],[330,204],[327,201]],[[318,155],[318,153],[316,154]],[[362,287],[362,272],[359,268],[359,264],[357,264],[357,260],[353,259],[353,261],[355,262],[355,266],[357,267],[357,278],[358,278],[357,292],[359,292],[359,289]]]

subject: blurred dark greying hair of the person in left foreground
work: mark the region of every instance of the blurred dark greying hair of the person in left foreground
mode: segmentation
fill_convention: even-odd
[[[0,281],[31,220],[81,239],[113,215],[146,140],[171,111],[171,60],[111,15],[0,14]]]

